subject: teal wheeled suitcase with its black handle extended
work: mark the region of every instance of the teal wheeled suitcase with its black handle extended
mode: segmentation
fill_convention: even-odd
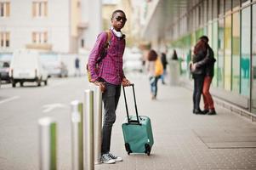
[[[151,154],[151,148],[154,144],[153,133],[151,128],[151,119],[148,116],[139,116],[137,111],[134,84],[132,84],[134,93],[134,105],[136,116],[129,116],[128,105],[125,94],[125,89],[123,89],[124,101],[127,111],[127,118],[122,123],[122,133],[125,143],[125,149],[130,153],[145,153],[148,156]]]

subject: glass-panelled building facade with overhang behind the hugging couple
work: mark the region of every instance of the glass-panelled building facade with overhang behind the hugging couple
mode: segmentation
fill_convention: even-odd
[[[198,37],[207,35],[217,62],[213,94],[256,114],[256,1],[152,0],[143,31],[159,48],[168,44],[182,59],[182,75],[190,79],[188,64]],[[156,37],[148,37],[154,34]]]

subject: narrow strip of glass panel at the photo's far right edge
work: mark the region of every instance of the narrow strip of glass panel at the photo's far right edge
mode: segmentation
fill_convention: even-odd
[[[253,5],[253,87],[252,87],[252,112],[256,114],[256,4]]]

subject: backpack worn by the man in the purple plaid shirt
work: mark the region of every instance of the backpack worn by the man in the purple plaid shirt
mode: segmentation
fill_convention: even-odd
[[[106,54],[107,54],[107,49],[109,48],[110,44],[111,44],[111,31],[105,31],[107,33],[107,38],[106,38],[106,42],[104,45],[104,51],[102,53],[100,53],[100,58],[96,61],[96,65],[95,65],[95,71],[99,71],[99,64],[102,61],[102,59],[105,58]],[[92,82],[92,75],[91,75],[91,71],[89,71],[88,68],[88,64],[86,65],[86,70],[88,72],[88,81]]]

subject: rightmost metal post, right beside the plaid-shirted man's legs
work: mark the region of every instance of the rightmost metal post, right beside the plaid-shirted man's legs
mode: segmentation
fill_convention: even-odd
[[[101,156],[101,129],[102,129],[102,93],[100,86],[95,86],[95,164],[100,164]]]

